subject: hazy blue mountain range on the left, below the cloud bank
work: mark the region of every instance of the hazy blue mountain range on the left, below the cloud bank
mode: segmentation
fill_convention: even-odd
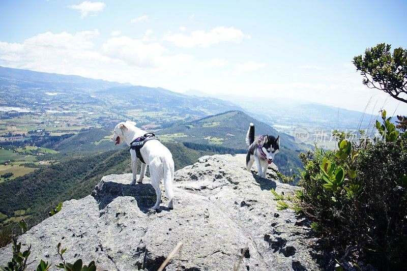
[[[197,119],[240,106],[216,98],[191,97],[160,87],[133,86],[74,75],[50,74],[0,67],[0,105],[32,107],[36,104],[103,106],[113,118],[140,124]],[[60,103],[60,104],[58,104]],[[37,108],[40,108],[37,106]],[[48,109],[50,106],[48,106]],[[92,108],[90,108],[92,109]],[[100,111],[100,108],[99,108]]]

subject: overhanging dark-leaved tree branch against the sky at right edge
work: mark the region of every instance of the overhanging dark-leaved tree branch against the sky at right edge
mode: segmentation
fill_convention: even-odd
[[[390,44],[367,48],[365,56],[355,56],[353,64],[364,76],[363,84],[388,93],[394,99],[407,103],[407,50],[401,47],[390,51]]]

